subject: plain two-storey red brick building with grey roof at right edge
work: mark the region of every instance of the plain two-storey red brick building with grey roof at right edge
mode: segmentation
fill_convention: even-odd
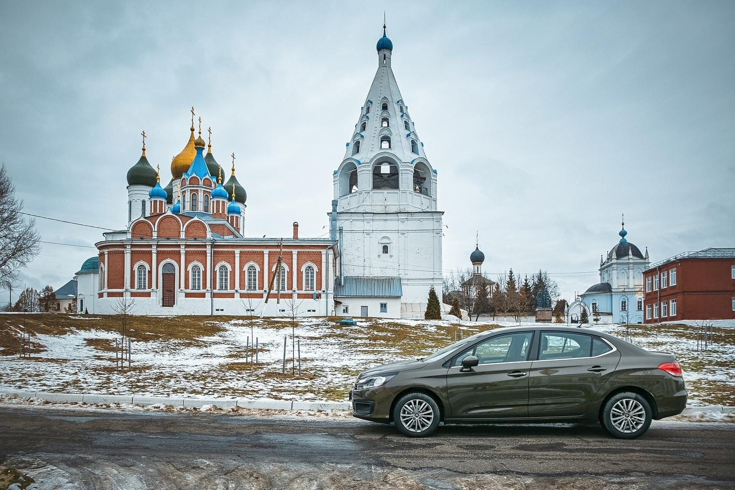
[[[643,272],[644,323],[735,318],[735,248],[684,252]]]

